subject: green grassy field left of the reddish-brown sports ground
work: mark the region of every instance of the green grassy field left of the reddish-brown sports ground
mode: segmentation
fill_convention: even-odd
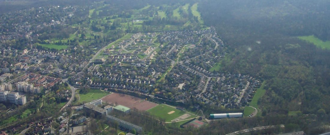
[[[77,90],[77,92],[79,93],[80,90]],[[88,93],[85,94],[79,94],[80,96],[80,100],[78,102],[82,103],[87,103],[87,102],[91,102],[95,99],[100,99],[106,95],[109,95],[109,92],[106,91],[101,91],[100,89],[90,89],[88,91]]]

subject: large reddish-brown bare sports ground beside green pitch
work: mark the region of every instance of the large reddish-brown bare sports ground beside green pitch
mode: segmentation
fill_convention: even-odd
[[[150,108],[157,106],[158,104],[145,101],[141,98],[133,97],[130,95],[112,93],[102,98],[102,101],[122,105],[128,108],[136,108],[139,111],[146,111]]]

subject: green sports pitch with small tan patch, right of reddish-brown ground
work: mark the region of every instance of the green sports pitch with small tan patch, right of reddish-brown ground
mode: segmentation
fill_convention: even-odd
[[[175,112],[173,114],[168,114],[171,111],[175,111]],[[151,115],[154,115],[156,117],[165,119],[166,122],[171,122],[171,120],[178,118],[185,114],[185,112],[183,112],[179,109],[176,109],[176,108],[164,105],[164,104],[157,105],[154,108],[147,110],[147,112],[149,112]]]

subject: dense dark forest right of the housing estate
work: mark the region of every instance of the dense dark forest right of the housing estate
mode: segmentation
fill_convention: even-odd
[[[266,81],[266,94],[258,103],[267,116],[300,110],[321,117],[321,112],[330,113],[330,54],[297,36],[329,40],[329,4],[322,0],[207,0],[199,10],[205,24],[218,28],[231,51],[229,58],[220,61],[221,70]],[[320,124],[300,124],[299,129],[311,131],[311,127],[329,124],[318,120]]]

